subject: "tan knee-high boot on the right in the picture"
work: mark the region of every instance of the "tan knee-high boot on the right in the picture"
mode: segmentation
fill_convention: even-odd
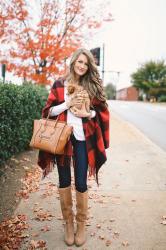
[[[76,209],[77,231],[75,235],[75,244],[76,246],[81,246],[86,241],[85,224],[88,211],[88,191],[84,193],[76,191]]]

